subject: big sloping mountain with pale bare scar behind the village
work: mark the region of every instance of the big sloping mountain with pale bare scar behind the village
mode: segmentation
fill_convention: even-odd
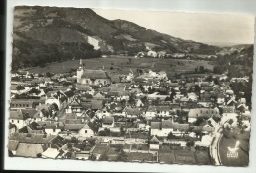
[[[16,6],[14,10],[13,69],[148,50],[215,54],[220,48],[125,20],[110,21],[92,9]]]

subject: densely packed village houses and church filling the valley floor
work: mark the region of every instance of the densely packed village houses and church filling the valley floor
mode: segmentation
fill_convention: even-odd
[[[227,74],[12,73],[10,156],[220,165],[224,133],[250,132],[251,112]],[[248,137],[249,138],[249,137]],[[235,157],[235,154],[229,153]]]

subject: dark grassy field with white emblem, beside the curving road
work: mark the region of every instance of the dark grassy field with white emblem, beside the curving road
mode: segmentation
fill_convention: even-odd
[[[238,157],[227,157],[227,152],[228,149],[227,147],[234,148],[236,141],[239,140],[239,149],[237,150],[238,152]],[[246,139],[236,139],[234,137],[222,137],[220,141],[220,149],[219,149],[219,154],[220,154],[220,159],[222,162],[222,165],[224,166],[247,166],[249,163],[249,142]]]

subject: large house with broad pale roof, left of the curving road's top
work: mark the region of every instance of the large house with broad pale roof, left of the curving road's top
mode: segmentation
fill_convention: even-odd
[[[188,112],[188,122],[194,123],[199,117],[210,118],[213,115],[219,115],[219,109],[213,108],[196,108],[190,109]]]

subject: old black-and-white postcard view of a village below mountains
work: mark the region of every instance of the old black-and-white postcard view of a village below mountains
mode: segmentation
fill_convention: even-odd
[[[249,165],[253,16],[13,15],[9,157]]]

